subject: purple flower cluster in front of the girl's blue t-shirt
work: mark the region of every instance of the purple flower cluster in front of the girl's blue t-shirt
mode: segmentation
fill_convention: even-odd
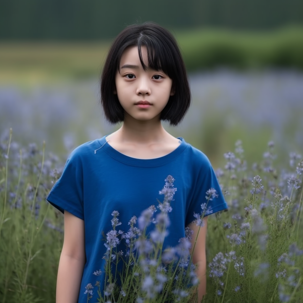
[[[185,237],[180,238],[175,247],[163,250],[163,243],[169,235],[168,213],[172,210],[170,204],[174,201],[177,191],[173,185],[174,181],[171,175],[165,178],[165,185],[160,191],[160,194],[164,195],[164,201],[159,201],[158,207],[152,205],[142,211],[138,219],[133,216],[128,222],[130,228],[127,232],[116,230],[116,227],[121,225],[119,212],[112,212],[113,229],[107,232],[104,244],[107,248],[106,265],[104,270],[96,270],[93,273],[95,276],[104,274],[108,277],[103,291],[100,281],[95,284],[100,302],[145,302],[145,299],[155,302],[188,301],[192,293],[191,288],[198,284],[190,253],[194,231],[186,227]],[[217,197],[218,194],[213,188],[206,192],[206,202],[201,204],[201,214],[197,220],[202,222],[204,215],[212,213],[211,207],[207,206],[208,201]],[[151,230],[146,234],[148,227]],[[121,243],[125,244],[126,253],[120,251],[117,255],[115,251]],[[192,250],[194,249],[195,247]],[[119,260],[123,262],[120,282],[113,278],[116,275],[112,272],[112,269],[117,268]],[[85,288],[88,300],[92,298],[93,288],[92,284]]]

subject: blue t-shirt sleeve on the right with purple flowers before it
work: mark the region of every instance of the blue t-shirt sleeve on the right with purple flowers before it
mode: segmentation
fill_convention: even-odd
[[[195,175],[197,177],[192,188],[192,199],[187,208],[186,225],[195,220],[194,214],[204,213],[204,216],[208,216],[228,208],[215,175],[215,171],[211,167],[211,164],[205,155],[202,165],[198,166],[198,173]],[[206,192],[209,190],[214,194],[211,195],[208,201],[209,195]]]

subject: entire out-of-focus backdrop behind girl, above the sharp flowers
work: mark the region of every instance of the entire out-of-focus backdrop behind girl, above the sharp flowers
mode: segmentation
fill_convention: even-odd
[[[145,21],[176,37],[192,106],[175,136],[218,165],[235,142],[258,161],[303,151],[303,2],[300,0],[11,0],[0,3],[0,140],[42,145],[63,160],[106,135],[99,75],[125,26]]]

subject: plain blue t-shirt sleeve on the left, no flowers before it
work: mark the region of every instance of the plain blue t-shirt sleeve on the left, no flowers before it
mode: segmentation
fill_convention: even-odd
[[[72,152],[66,161],[61,177],[55,183],[46,199],[62,213],[66,210],[83,220],[82,168],[81,158],[75,151]]]

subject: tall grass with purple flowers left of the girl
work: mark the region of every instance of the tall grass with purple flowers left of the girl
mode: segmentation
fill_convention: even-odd
[[[62,245],[61,223],[52,228],[45,202],[54,159],[45,159],[44,144],[23,148],[11,139],[12,131],[0,145],[0,301],[52,302]]]

